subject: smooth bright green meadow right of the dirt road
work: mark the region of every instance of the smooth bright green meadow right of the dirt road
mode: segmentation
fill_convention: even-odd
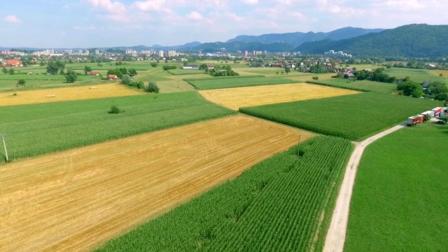
[[[406,127],[360,162],[344,251],[447,251],[448,127]]]

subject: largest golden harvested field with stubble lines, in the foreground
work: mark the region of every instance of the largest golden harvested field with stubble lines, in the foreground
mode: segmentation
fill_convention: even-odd
[[[297,133],[231,116],[2,165],[0,247],[94,248],[286,151]]]

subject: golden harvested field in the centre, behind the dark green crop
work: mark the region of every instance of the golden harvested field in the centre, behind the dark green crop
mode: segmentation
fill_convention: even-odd
[[[359,92],[322,85],[297,83],[201,90],[200,93],[210,102],[238,110],[241,107],[335,97],[345,94],[358,94]]]

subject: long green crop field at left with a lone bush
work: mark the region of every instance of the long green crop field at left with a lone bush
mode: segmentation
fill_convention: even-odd
[[[108,113],[112,105],[111,99],[98,102],[89,100],[80,104],[60,103],[60,108],[54,109],[55,112],[53,108],[59,103],[53,103],[52,106],[25,106],[24,111],[18,112],[18,115],[25,115],[29,120],[20,122],[20,119],[13,119],[11,123],[0,124],[0,132],[8,134],[8,155],[10,159],[15,159],[97,144],[235,113],[207,102],[195,92],[192,93],[144,95],[147,99],[137,96],[135,104],[132,104],[130,98],[112,100],[123,111],[119,114]],[[170,95],[173,99],[167,98]],[[158,102],[159,96],[165,97],[162,102]],[[86,105],[90,102],[92,104]],[[73,104],[75,107],[71,109],[72,112],[64,115],[64,109],[70,110]],[[84,106],[88,108],[85,111]],[[94,106],[98,106],[97,109],[94,109]],[[20,111],[20,108],[6,107],[9,113]],[[33,112],[36,113],[36,120],[32,120]],[[1,160],[5,160],[3,156]]]

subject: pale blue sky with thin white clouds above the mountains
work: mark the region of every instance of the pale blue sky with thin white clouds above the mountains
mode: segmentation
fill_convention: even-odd
[[[447,0],[0,0],[0,47],[103,48],[448,25]]]

